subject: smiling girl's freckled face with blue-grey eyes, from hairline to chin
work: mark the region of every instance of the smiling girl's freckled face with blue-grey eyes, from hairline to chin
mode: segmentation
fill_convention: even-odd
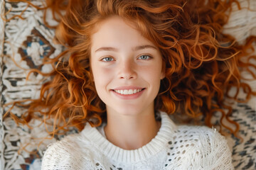
[[[164,78],[161,53],[119,16],[107,18],[92,35],[90,64],[107,113],[154,111],[154,98]]]

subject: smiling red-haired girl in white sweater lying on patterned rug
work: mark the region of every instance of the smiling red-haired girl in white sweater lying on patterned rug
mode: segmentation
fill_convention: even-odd
[[[23,119],[40,111],[53,135],[82,131],[50,145],[42,169],[234,169],[214,128],[169,118],[203,115],[211,127],[221,111],[234,123],[225,96],[250,86],[240,83],[245,47],[221,32],[231,2],[48,2],[65,9],[56,38],[68,50],[46,61],[57,63],[53,80]]]

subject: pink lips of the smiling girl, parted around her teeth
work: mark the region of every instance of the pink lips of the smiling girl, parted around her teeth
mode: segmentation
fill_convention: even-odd
[[[127,89],[142,89],[142,91],[139,91],[136,94],[118,94],[117,92],[115,92],[115,90],[127,90]],[[146,88],[142,88],[139,86],[119,86],[115,89],[112,89],[111,92],[117,96],[118,98],[121,98],[123,100],[132,100],[132,99],[136,99],[139,98],[139,96],[142,96],[142,94],[144,93]]]

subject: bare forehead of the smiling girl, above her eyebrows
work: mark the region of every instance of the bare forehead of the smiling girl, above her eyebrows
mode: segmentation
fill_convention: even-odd
[[[92,50],[100,46],[129,47],[153,45],[136,29],[135,23],[119,16],[111,16],[97,24],[92,34]]]

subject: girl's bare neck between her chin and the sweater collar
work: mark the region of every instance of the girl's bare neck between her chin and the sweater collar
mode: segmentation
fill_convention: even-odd
[[[113,145],[122,149],[138,149],[149,143],[161,126],[150,113],[122,115],[107,113],[105,135]]]

